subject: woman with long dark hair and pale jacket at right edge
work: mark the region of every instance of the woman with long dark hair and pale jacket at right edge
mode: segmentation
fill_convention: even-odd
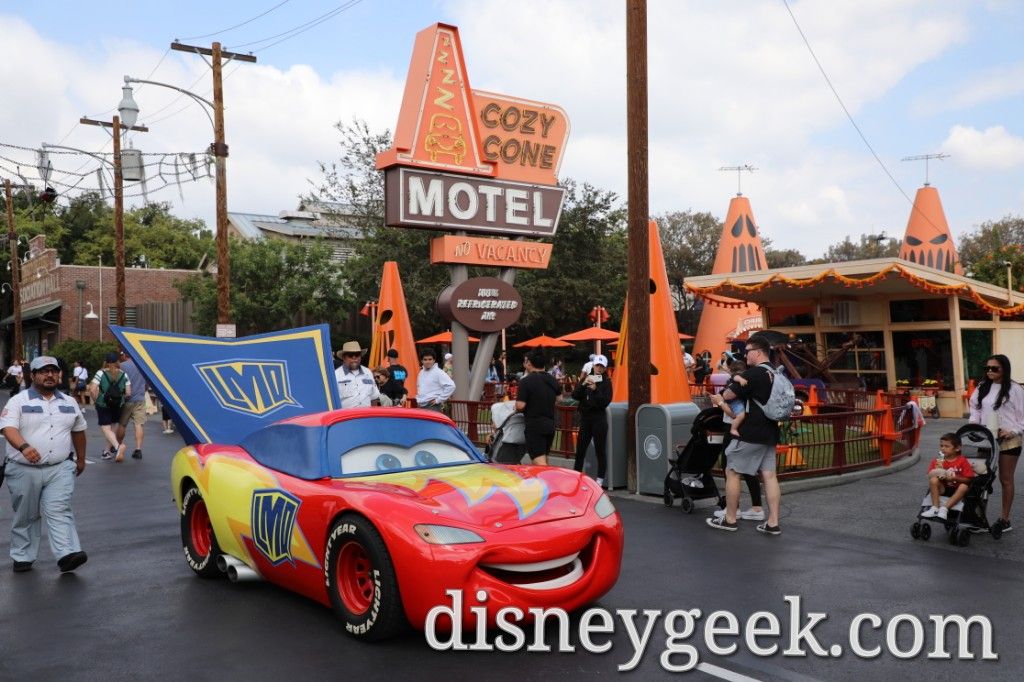
[[[1002,514],[993,525],[1008,532],[1013,529],[1010,507],[1014,504],[1014,473],[1021,456],[1021,436],[1024,434],[1024,388],[1011,378],[1009,357],[992,355],[985,360],[985,378],[971,396],[969,404],[971,423],[988,427],[998,440]]]

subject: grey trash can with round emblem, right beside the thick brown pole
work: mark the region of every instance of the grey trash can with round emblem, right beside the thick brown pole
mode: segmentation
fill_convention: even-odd
[[[637,408],[637,493],[665,493],[669,455],[689,439],[699,413],[692,402],[645,403]]]

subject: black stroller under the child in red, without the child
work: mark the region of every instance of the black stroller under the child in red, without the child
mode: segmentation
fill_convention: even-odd
[[[967,495],[949,510],[949,516],[943,520],[938,517],[920,518],[910,526],[910,537],[914,540],[928,540],[932,537],[932,523],[941,524],[950,545],[967,547],[971,542],[972,532],[990,532],[998,540],[1002,529],[988,524],[986,508],[988,496],[992,493],[992,482],[995,480],[996,455],[999,452],[992,432],[978,424],[966,424],[956,430],[956,435],[963,442],[961,452],[971,463],[975,476],[971,479]],[[941,498],[943,504],[945,497]],[[922,509],[932,506],[932,498],[926,495]],[[920,512],[919,512],[920,513]]]

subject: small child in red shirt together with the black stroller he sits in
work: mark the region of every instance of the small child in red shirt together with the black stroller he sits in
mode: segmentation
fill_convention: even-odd
[[[942,435],[940,456],[928,467],[929,493],[910,526],[914,540],[931,538],[932,523],[942,524],[950,545],[966,547],[972,532],[988,531],[999,539],[1001,528],[990,526],[986,516],[997,452],[991,432],[977,424]]]

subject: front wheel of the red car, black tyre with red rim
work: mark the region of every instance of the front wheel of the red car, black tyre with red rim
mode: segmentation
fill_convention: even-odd
[[[406,628],[391,555],[373,523],[343,516],[331,528],[326,553],[331,604],[350,635],[375,641]]]

